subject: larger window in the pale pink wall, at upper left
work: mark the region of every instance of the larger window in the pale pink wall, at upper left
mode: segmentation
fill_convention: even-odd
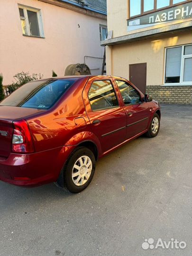
[[[39,9],[18,6],[23,35],[44,37],[41,11]]]

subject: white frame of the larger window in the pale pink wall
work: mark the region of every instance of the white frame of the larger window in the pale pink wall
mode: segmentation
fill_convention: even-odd
[[[23,34],[23,36],[28,36],[28,37],[45,37],[44,35],[44,29],[43,29],[43,21],[42,21],[42,13],[40,9],[25,6],[25,5],[20,5],[18,4],[18,11],[19,8],[23,9],[25,20],[26,20],[26,30],[27,34]],[[29,22],[28,22],[28,15],[27,15],[27,10],[34,11],[37,13],[37,21],[38,21],[38,28],[39,28],[39,36],[33,36],[30,35],[30,27],[29,27]],[[19,14],[19,18],[21,19],[22,17]]]

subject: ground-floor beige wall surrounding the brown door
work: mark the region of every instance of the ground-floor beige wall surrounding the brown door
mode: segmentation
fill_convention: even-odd
[[[107,73],[129,79],[129,64],[147,63],[147,85],[164,83],[165,48],[192,42],[192,33],[107,46]]]

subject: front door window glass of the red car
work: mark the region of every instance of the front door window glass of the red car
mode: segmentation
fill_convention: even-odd
[[[137,104],[141,102],[141,96],[139,92],[130,84],[120,80],[116,80],[116,83],[119,87],[125,105]]]

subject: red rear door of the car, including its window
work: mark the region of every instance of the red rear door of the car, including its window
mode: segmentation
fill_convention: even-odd
[[[99,138],[103,153],[126,139],[126,113],[116,86],[110,77],[94,77],[87,82],[82,94],[91,131]]]

